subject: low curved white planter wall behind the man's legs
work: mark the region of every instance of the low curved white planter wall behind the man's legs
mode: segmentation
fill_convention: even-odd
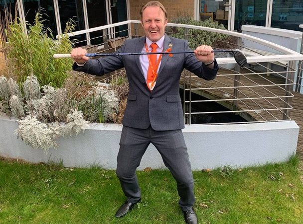
[[[77,137],[59,139],[59,148],[45,154],[32,149],[13,134],[15,120],[0,118],[0,156],[30,162],[63,161],[66,167],[103,166],[116,168],[122,126],[92,124]],[[294,121],[238,125],[190,125],[183,129],[192,169],[223,165],[245,167],[287,161],[296,153],[299,127]],[[163,168],[151,145],[139,169]]]

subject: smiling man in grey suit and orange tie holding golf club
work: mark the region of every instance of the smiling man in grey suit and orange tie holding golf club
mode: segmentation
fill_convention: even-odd
[[[167,12],[160,2],[148,2],[140,14],[146,36],[126,40],[118,53],[191,51],[187,40],[165,34]],[[179,80],[183,69],[207,80],[214,79],[218,65],[212,50],[210,46],[202,45],[194,54],[172,57],[165,54],[153,59],[151,55],[110,56],[98,60],[86,57],[87,52],[82,48],[72,51],[76,71],[103,75],[124,67],[127,73],[130,91],[117,157],[117,176],[127,200],[116,217],[123,217],[141,201],[136,168],[152,143],[177,182],[179,206],[186,223],[197,223],[193,210],[193,176],[181,131],[184,120]],[[152,60],[157,63],[152,64]]]

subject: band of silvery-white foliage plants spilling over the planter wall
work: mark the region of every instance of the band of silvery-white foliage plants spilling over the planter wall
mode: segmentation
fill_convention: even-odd
[[[18,118],[17,138],[46,153],[58,147],[60,136],[78,135],[89,122],[112,121],[119,113],[119,97],[110,86],[91,84],[80,101],[64,87],[44,85],[41,93],[35,75],[22,88],[24,96],[14,79],[0,76],[0,112]]]

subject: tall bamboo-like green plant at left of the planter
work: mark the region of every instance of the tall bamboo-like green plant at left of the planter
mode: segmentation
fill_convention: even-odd
[[[37,13],[34,25],[21,22],[18,18],[6,30],[8,48],[6,58],[9,61],[8,69],[16,77],[20,85],[28,75],[35,75],[41,86],[51,84],[61,87],[68,71],[71,70],[71,59],[55,60],[53,54],[69,53],[72,42],[67,35],[61,35],[54,40],[50,30],[44,28],[41,14]],[[25,27],[28,27],[27,33]],[[66,32],[71,32],[73,23],[67,23]],[[50,33],[50,37],[47,35]]]

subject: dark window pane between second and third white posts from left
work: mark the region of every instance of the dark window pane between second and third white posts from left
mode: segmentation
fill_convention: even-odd
[[[62,32],[64,32],[66,22],[69,21],[69,19],[72,19],[76,24],[74,31],[85,29],[83,5],[81,0],[58,0],[58,5]],[[75,40],[75,46],[77,47],[87,44],[85,34],[73,36],[71,39]]]

